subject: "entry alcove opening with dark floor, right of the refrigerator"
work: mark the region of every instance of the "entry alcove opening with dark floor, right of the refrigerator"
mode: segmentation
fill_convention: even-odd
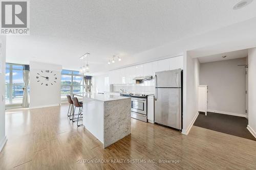
[[[239,55],[238,55],[238,54]],[[248,131],[248,51],[206,56],[200,64],[200,85],[207,85],[207,116],[195,126],[256,140]]]

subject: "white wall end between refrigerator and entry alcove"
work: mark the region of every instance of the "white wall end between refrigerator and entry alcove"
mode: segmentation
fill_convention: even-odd
[[[198,115],[198,85],[200,63],[188,54],[184,56],[183,70],[183,129],[182,134],[187,135]]]

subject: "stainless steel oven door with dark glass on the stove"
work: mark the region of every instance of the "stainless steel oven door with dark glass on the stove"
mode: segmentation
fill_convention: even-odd
[[[132,111],[146,115],[146,99],[132,98]]]

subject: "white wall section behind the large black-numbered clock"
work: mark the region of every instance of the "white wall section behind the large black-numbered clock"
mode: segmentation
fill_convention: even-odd
[[[43,72],[41,72],[41,70]],[[53,72],[46,74],[45,70],[50,70]],[[60,104],[61,70],[61,65],[30,62],[30,108],[50,107]],[[37,82],[37,74],[49,76],[49,82],[53,83],[53,85],[50,83],[48,83],[48,86],[46,86],[46,83],[41,85],[42,79],[40,79],[40,82]],[[57,78],[57,80],[54,80],[56,83],[53,82],[53,78],[55,77]]]

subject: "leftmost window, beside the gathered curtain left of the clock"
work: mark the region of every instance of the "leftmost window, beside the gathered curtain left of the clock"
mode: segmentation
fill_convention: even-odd
[[[21,104],[24,86],[23,65],[6,63],[5,103]]]

